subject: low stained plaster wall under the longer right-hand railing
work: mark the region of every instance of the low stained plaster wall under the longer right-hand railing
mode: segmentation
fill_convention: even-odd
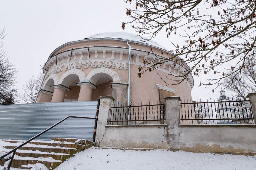
[[[180,125],[180,149],[256,154],[256,125]]]

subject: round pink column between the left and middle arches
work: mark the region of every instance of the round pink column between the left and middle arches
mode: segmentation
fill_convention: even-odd
[[[54,85],[54,86],[50,86],[50,87],[54,88],[53,97],[52,97],[51,102],[64,101],[65,92],[71,90],[68,87],[63,86],[62,84],[58,84],[58,85]]]

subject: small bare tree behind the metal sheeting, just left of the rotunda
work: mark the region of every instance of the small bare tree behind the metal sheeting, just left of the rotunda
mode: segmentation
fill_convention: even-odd
[[[19,98],[25,103],[34,103],[36,100],[36,95],[39,91],[41,81],[43,78],[43,73],[38,73],[37,76],[29,77],[29,80],[23,85],[23,92],[19,95]]]

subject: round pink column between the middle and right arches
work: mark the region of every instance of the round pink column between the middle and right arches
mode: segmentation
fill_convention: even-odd
[[[77,83],[77,85],[80,86],[78,101],[91,101],[92,89],[96,89],[97,87],[91,82],[81,82]]]

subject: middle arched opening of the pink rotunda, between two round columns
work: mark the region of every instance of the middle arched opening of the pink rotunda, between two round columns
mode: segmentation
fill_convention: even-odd
[[[71,89],[65,92],[64,101],[78,101],[80,87],[76,83],[79,82],[79,77],[75,74],[68,75],[64,78],[61,84]]]

